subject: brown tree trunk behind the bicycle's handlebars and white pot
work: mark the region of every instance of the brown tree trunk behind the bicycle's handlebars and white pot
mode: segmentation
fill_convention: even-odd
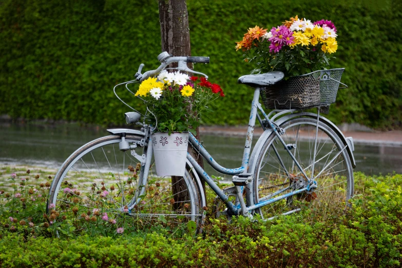
[[[190,56],[190,32],[188,27],[188,12],[185,0],[159,0],[159,20],[161,24],[162,51],[167,51],[174,56]],[[173,64],[172,64],[173,65]],[[193,64],[187,64],[188,68],[193,69]],[[175,67],[176,64],[169,67]],[[197,139],[200,132],[197,127]],[[201,156],[188,146],[188,152],[203,166]],[[172,190],[175,199],[175,208],[180,208],[180,204],[184,204],[188,193],[185,189],[184,181],[180,181],[181,177],[172,177]],[[205,182],[202,180],[202,187],[205,193]],[[182,192],[182,193],[180,193]],[[179,193],[179,194],[177,194]]]

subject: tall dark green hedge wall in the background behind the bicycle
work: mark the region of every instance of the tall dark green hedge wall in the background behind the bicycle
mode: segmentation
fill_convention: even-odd
[[[253,69],[235,42],[248,27],[276,26],[298,14],[328,18],[338,29],[333,67],[346,67],[329,118],[371,127],[398,127],[402,119],[402,4],[385,1],[188,0],[195,65],[219,83],[226,98],[209,124],[244,124],[253,90],[237,78]],[[146,3],[146,4],[145,4]],[[113,95],[140,63],[155,68],[161,49],[158,1],[0,1],[0,114],[123,124],[128,111]],[[135,87],[133,87],[135,89]],[[122,97],[143,108],[121,88]]]

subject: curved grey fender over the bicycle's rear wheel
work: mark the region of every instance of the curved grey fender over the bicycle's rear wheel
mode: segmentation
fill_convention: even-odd
[[[317,114],[312,113],[312,112],[292,113],[292,114],[288,114],[286,116],[283,116],[283,117],[279,118],[278,120],[275,121],[275,123],[280,126],[283,123],[285,123],[286,121],[289,121],[291,119],[298,118],[298,117],[310,117],[310,118],[317,119]],[[348,151],[348,155],[349,155],[350,160],[352,162],[352,166],[353,166],[353,168],[355,168],[356,167],[356,161],[355,161],[355,158],[353,156],[353,151],[354,151],[353,138],[352,137],[346,138],[343,135],[342,131],[340,131],[340,129],[334,123],[332,123],[330,120],[328,120],[327,118],[319,116],[319,121],[324,123],[324,124],[327,124],[329,127],[331,127],[331,129],[334,130],[335,133],[337,133],[337,135],[341,139],[343,145],[348,145],[348,147],[346,149]],[[259,155],[259,153],[260,153],[260,151],[262,149],[262,146],[264,145],[265,140],[268,137],[270,137],[272,132],[273,132],[273,130],[271,128],[266,129],[262,133],[261,137],[258,139],[256,145],[253,148],[251,156],[250,156],[250,161],[249,161],[249,164],[248,164],[247,173],[254,174],[254,167],[255,167],[255,164],[256,164],[256,161],[257,161],[257,157],[258,157],[258,155]]]

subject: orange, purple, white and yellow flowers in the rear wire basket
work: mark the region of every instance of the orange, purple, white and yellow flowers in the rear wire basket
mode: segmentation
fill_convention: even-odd
[[[236,50],[242,49],[245,62],[255,62],[252,73],[282,71],[285,79],[329,65],[327,55],[338,48],[336,27],[331,21],[312,23],[296,15],[270,31],[249,28]]]

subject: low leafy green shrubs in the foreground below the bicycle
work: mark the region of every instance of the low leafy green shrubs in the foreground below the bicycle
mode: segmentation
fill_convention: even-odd
[[[315,216],[303,209],[266,222],[208,217],[202,235],[178,238],[158,224],[154,232],[61,239],[25,225],[18,235],[4,227],[9,221],[0,209],[0,266],[400,267],[402,175],[355,173],[355,181],[351,209],[327,207]]]

